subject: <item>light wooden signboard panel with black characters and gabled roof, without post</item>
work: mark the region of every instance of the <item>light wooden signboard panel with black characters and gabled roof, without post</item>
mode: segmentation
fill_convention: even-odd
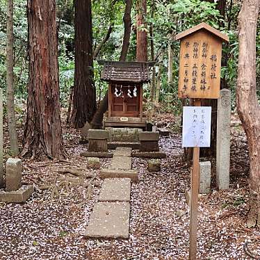
[[[228,42],[228,36],[202,23],[179,33],[175,40],[181,40],[178,97],[217,99],[222,42]]]

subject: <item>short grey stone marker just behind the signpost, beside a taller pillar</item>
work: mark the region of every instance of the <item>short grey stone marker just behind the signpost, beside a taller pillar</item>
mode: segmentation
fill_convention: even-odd
[[[200,193],[209,194],[211,192],[211,162],[200,162]]]

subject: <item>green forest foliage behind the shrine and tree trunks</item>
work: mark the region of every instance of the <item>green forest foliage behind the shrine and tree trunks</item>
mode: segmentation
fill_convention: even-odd
[[[60,104],[67,108],[70,91],[74,86],[74,1],[58,0],[57,33],[58,65],[60,76]],[[220,4],[222,6],[220,6]],[[14,86],[15,110],[22,123],[26,108],[28,85],[28,21],[27,1],[14,2]],[[97,102],[106,93],[106,83],[100,81],[101,66],[97,60],[119,60],[124,37],[125,1],[92,1],[92,33],[94,54],[94,82]],[[238,13],[241,1],[225,0],[217,3],[200,0],[147,1],[145,24],[136,27],[136,1],[131,8],[131,38],[127,60],[136,60],[136,31],[147,32],[148,60],[155,60],[154,102],[149,106],[162,111],[181,113],[177,98],[179,71],[179,42],[174,35],[200,22],[227,33],[229,44],[222,51],[222,85],[232,93],[232,109],[236,110],[236,78],[238,64]],[[6,90],[6,0],[0,0],[0,86]],[[104,43],[101,45],[101,43]],[[101,47],[99,49],[99,47]],[[152,48],[151,48],[152,47]],[[151,51],[154,49],[154,54]],[[257,24],[257,91],[260,99],[260,21]],[[154,57],[152,57],[154,56]],[[150,99],[150,86],[145,86],[145,99]],[[149,108],[149,107],[148,107]],[[5,110],[6,111],[6,110]]]

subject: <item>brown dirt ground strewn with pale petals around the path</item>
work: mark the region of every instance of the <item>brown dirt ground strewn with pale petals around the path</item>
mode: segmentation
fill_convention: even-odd
[[[176,122],[170,114],[155,120],[169,122],[170,128]],[[260,256],[260,231],[245,227],[249,162],[239,122],[233,122],[231,136],[229,190],[216,190],[216,162],[210,159],[211,193],[202,195],[199,202],[198,259],[253,259],[245,254],[245,243],[255,259]],[[22,129],[19,138],[22,140]],[[23,159],[22,181],[33,184],[35,193],[24,204],[0,204],[0,259],[188,259],[189,209],[185,191],[190,185],[190,168],[182,161],[180,134],[161,138],[161,150],[167,154],[161,160],[161,172],[151,174],[146,159],[133,159],[140,181],[131,186],[128,240],[82,236],[99,195],[99,170],[85,170],[86,176],[95,173],[95,177],[82,178],[79,184],[60,185],[58,196],[54,193],[66,175],[73,177],[64,173],[65,168],[87,167],[86,159],[79,156],[87,149],[87,145],[79,144],[79,131],[63,126],[63,138],[68,162]],[[6,126],[4,143],[7,159]],[[101,167],[110,161],[101,159]]]

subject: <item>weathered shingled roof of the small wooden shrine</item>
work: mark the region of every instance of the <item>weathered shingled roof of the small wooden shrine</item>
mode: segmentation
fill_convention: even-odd
[[[147,83],[150,81],[149,67],[154,62],[127,62],[127,61],[108,61],[98,60],[98,63],[104,65],[101,73],[101,79],[104,81],[120,81]]]

